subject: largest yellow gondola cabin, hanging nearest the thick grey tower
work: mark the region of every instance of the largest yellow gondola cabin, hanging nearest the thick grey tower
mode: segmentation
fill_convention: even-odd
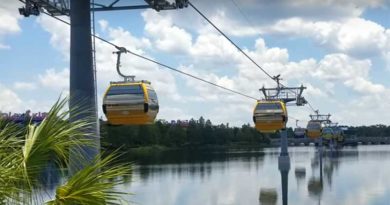
[[[148,81],[111,82],[103,97],[103,112],[112,125],[151,124],[159,110]]]

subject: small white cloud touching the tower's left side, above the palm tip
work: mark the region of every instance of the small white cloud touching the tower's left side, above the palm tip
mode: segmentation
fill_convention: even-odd
[[[48,69],[45,74],[38,75],[39,83],[48,89],[64,91],[69,90],[69,69],[56,71],[55,69]]]

